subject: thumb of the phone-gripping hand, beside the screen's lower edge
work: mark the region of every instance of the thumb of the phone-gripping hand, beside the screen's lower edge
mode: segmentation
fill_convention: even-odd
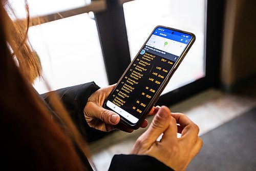
[[[120,121],[120,116],[112,110],[107,110],[93,102],[87,103],[89,117],[100,119],[103,123],[108,125],[116,125]]]

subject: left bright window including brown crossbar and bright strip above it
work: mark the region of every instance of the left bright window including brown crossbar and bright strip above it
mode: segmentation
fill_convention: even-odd
[[[9,2],[18,18],[26,17],[25,1]],[[28,0],[32,23],[33,17],[43,19],[42,24],[29,28],[29,42],[51,89],[91,81],[101,87],[109,85],[94,13],[90,12],[91,6],[103,9],[102,2]],[[42,79],[35,80],[34,87],[39,93],[49,91]]]

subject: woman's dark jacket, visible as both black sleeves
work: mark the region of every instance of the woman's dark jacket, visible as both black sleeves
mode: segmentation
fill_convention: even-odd
[[[90,127],[83,115],[83,108],[87,103],[88,98],[99,87],[94,83],[86,83],[77,86],[62,88],[56,90],[61,101],[68,110],[73,122],[77,126],[81,135],[88,141],[92,142],[102,138],[106,132]],[[41,94],[49,106],[49,98],[47,93]],[[50,106],[49,106],[50,107]],[[52,109],[51,109],[52,110]],[[55,116],[52,110],[52,115]],[[55,118],[57,119],[57,118]],[[79,153],[79,152],[78,152]],[[80,155],[82,158],[83,156]],[[82,161],[87,161],[83,160]],[[139,155],[115,155],[111,161],[109,170],[173,170],[151,156]]]

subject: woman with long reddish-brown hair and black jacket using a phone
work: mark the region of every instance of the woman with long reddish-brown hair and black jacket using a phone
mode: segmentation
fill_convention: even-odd
[[[29,15],[26,24],[14,23],[6,9],[11,8],[2,1],[2,167],[7,170],[93,170],[84,139],[95,141],[116,128],[133,131],[119,124],[116,113],[102,108],[114,85],[100,89],[94,83],[87,83],[39,96],[30,84],[40,76],[40,65],[26,42]],[[131,154],[115,155],[109,170],[184,170],[198,154],[202,140],[196,124],[182,113],[170,115],[165,106],[153,108],[150,114],[155,113],[153,122],[138,138]],[[144,121],[141,127],[146,126]],[[182,134],[179,139],[177,132]],[[161,141],[157,142],[162,133]]]

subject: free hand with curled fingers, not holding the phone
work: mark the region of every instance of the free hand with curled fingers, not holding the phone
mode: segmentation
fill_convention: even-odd
[[[181,138],[177,138],[177,132]],[[163,106],[150,127],[137,139],[131,153],[152,156],[174,170],[185,170],[203,145],[198,132],[198,126],[184,114],[170,113]],[[160,142],[156,141],[162,133]]]

